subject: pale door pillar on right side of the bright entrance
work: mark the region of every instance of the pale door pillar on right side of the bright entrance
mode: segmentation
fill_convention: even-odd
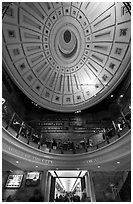
[[[85,183],[86,183],[86,195],[87,197],[90,197],[91,202],[96,202],[96,196],[95,196],[95,188],[94,183],[92,179],[92,173],[87,171],[85,175]]]

